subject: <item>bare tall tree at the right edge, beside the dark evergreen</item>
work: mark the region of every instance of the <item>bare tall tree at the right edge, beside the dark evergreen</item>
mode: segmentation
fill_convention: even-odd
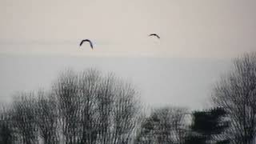
[[[249,144],[256,132],[256,53],[234,59],[233,66],[214,87],[212,100],[230,119],[230,129],[223,137],[232,143]]]

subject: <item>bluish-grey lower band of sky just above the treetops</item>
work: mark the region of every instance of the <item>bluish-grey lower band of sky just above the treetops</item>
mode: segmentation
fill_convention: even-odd
[[[214,82],[231,67],[230,59],[216,58],[94,58],[71,56],[17,56],[0,54],[1,101],[10,101],[18,91],[50,86],[67,68],[96,68],[114,72],[132,82],[150,106],[207,106]]]

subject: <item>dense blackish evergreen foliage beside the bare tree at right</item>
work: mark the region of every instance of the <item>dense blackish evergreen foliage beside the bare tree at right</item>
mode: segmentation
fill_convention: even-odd
[[[191,125],[192,133],[186,138],[186,144],[227,142],[226,139],[218,138],[218,135],[228,127],[228,122],[224,120],[225,116],[226,111],[219,107],[195,111]]]

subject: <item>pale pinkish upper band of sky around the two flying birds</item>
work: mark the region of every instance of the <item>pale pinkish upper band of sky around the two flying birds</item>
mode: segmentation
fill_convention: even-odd
[[[254,0],[1,0],[1,53],[234,57],[256,50],[255,7]],[[78,50],[82,38],[95,50]]]

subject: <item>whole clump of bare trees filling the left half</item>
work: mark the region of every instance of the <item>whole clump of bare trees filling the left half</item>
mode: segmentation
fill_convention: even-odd
[[[66,70],[51,91],[19,93],[10,113],[1,110],[0,142],[15,136],[24,144],[128,144],[141,108],[138,91],[114,74]]]

